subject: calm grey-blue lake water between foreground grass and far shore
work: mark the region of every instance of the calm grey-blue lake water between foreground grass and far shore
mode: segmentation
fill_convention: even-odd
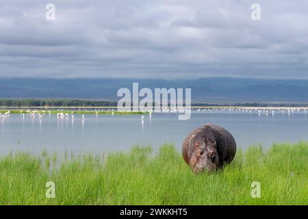
[[[75,119],[58,119],[55,114],[31,118],[10,114],[0,119],[0,153],[28,151],[73,151],[95,153],[128,151],[136,144],[151,144],[154,149],[165,142],[174,143],[180,151],[181,144],[190,131],[205,123],[220,125],[230,131],[239,148],[253,143],[264,147],[273,142],[297,142],[308,140],[308,117],[302,110],[290,114],[278,110],[266,115],[257,111],[229,112],[193,110],[190,120],[178,120],[177,114],[155,113],[149,115],[81,115]]]

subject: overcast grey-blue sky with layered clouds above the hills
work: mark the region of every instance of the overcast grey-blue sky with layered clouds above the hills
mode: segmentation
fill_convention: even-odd
[[[0,77],[209,76],[308,79],[308,1],[0,2]]]

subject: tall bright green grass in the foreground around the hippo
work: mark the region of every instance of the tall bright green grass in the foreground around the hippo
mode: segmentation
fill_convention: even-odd
[[[55,182],[55,198],[45,183]],[[251,183],[261,183],[261,198]],[[1,205],[308,205],[308,142],[238,150],[212,174],[194,175],[172,145],[153,153],[60,156],[10,154],[0,158]]]

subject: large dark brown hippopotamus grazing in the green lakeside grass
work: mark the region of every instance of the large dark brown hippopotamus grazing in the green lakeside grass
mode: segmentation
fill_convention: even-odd
[[[236,143],[229,131],[207,123],[188,134],[182,153],[193,172],[211,172],[233,160]]]

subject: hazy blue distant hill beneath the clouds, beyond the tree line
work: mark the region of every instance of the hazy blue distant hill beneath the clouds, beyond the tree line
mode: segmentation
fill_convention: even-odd
[[[119,88],[192,88],[194,103],[308,103],[308,80],[238,79],[31,79],[0,78],[0,99],[117,101]]]

